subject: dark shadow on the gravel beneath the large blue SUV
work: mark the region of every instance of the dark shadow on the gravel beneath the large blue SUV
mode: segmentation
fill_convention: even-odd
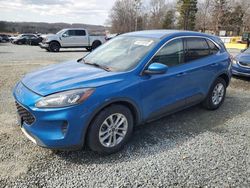
[[[87,148],[80,151],[58,151],[55,155],[76,164],[127,162],[136,160],[138,155],[147,158],[178,147],[204,132],[227,132],[225,123],[248,110],[247,105],[244,105],[246,103],[250,103],[250,97],[241,99],[229,96],[216,111],[208,111],[198,105],[137,126],[124,149],[112,155],[102,156]]]

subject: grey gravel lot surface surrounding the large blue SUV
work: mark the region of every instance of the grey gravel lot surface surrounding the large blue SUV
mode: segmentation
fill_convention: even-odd
[[[16,124],[14,84],[84,53],[0,44],[0,187],[250,187],[250,79],[233,78],[217,111],[195,106],[137,127],[117,154],[33,145]]]

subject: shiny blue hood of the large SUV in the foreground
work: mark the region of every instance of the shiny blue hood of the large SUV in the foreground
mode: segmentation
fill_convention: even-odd
[[[24,76],[22,83],[35,93],[46,96],[52,93],[122,81],[121,73],[107,72],[103,69],[69,61],[51,65]]]

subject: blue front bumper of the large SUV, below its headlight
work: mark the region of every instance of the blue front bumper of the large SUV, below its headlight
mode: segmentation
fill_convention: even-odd
[[[78,149],[83,146],[91,108],[77,105],[65,108],[39,109],[35,102],[41,98],[22,83],[14,89],[14,98],[34,117],[32,124],[20,121],[23,133],[35,144],[50,149]]]

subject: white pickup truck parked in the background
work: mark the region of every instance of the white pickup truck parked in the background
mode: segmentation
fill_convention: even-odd
[[[47,35],[40,47],[50,52],[58,52],[60,48],[86,48],[91,51],[106,41],[105,36],[91,36],[86,29],[62,29],[56,34]]]

